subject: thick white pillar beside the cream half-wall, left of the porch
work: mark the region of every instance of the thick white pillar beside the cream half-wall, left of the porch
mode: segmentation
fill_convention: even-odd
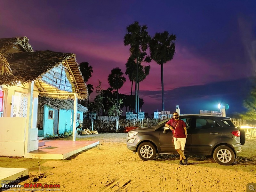
[[[32,105],[33,105],[33,91],[34,91],[34,81],[28,83],[28,108],[27,108],[27,119],[26,119],[26,136],[25,136],[25,151],[30,152],[30,129],[31,129],[31,119],[32,119]]]

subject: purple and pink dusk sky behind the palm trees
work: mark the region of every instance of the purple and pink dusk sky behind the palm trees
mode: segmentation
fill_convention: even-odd
[[[110,3],[111,2],[111,3]],[[181,113],[244,110],[248,88],[255,85],[255,1],[0,1],[0,38],[27,36],[34,50],[72,52],[93,67],[87,84],[107,89],[112,68],[125,72],[129,46],[126,27],[134,21],[148,32],[175,34],[176,53],[164,64],[165,110]],[[154,61],[140,83],[142,110],[162,109],[161,67]],[[120,93],[129,94],[128,77]],[[252,77],[252,80],[248,78]],[[242,82],[242,83],[241,83]],[[247,82],[247,83],[245,83]],[[225,86],[224,86],[225,85]]]

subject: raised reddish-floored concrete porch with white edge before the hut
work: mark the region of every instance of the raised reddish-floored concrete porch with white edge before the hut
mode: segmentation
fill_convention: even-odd
[[[66,159],[69,156],[94,147],[97,144],[99,144],[99,141],[44,140],[45,148],[30,151],[25,157],[37,159]]]

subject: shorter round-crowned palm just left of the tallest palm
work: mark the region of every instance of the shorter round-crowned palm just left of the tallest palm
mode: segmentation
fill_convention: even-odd
[[[110,87],[116,90],[117,92],[117,102],[118,102],[118,89],[120,89],[124,82],[126,81],[125,77],[123,76],[124,73],[122,72],[122,69],[120,68],[113,68],[111,70],[111,73],[108,76],[108,84]]]

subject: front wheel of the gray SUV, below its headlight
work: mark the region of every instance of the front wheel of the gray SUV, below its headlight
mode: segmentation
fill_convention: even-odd
[[[156,156],[156,147],[150,142],[144,142],[139,145],[137,152],[143,161],[152,160]]]

